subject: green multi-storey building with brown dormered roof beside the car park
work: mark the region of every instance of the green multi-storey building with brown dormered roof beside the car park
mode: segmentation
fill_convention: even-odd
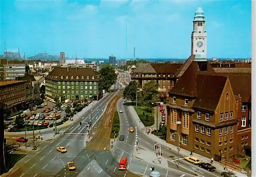
[[[46,97],[51,99],[99,100],[102,95],[101,78],[91,68],[56,67],[46,77]]]

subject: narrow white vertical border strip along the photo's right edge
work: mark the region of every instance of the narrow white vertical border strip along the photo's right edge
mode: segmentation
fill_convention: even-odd
[[[256,76],[256,43],[255,43],[255,27],[256,27],[256,2],[255,0],[251,1],[251,150],[252,150],[252,154],[251,154],[251,167],[252,167],[252,171],[251,171],[251,176],[256,176],[256,153],[255,153],[255,147],[256,147],[256,141],[255,141],[255,137],[256,137],[256,110],[255,110],[255,96],[256,96],[256,87],[255,87],[255,76]],[[254,150],[253,150],[254,149]]]

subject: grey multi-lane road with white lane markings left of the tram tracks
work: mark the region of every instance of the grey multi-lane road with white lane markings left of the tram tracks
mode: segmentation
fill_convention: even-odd
[[[101,117],[104,108],[115,93],[110,93],[102,98],[92,109],[85,113],[80,120],[73,123],[65,132],[56,137],[52,141],[45,141],[40,144],[37,151],[30,152],[25,158],[20,160],[13,168],[13,172],[9,176],[54,176],[62,169],[66,169],[69,161],[83,158],[87,156],[84,153],[85,142],[87,138],[87,124],[84,122],[91,121],[96,123]],[[80,121],[83,122],[80,125]],[[67,153],[60,153],[56,150],[58,146],[65,146]],[[79,158],[78,158],[79,157]],[[77,165],[79,162],[77,163]],[[87,164],[84,164],[87,165]],[[81,169],[81,168],[78,168]],[[77,170],[78,171],[78,170]],[[78,175],[78,172],[76,175]],[[64,175],[65,175],[64,173]]]

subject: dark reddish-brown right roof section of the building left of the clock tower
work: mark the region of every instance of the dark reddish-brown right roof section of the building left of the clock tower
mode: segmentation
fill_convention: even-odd
[[[175,74],[183,64],[177,63],[152,63],[151,64],[157,74],[172,73]]]

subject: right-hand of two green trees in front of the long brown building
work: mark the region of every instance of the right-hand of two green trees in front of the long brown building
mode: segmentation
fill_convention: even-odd
[[[151,80],[144,85],[142,92],[139,94],[139,101],[148,107],[152,107],[152,103],[159,101],[158,83],[155,80]]]

